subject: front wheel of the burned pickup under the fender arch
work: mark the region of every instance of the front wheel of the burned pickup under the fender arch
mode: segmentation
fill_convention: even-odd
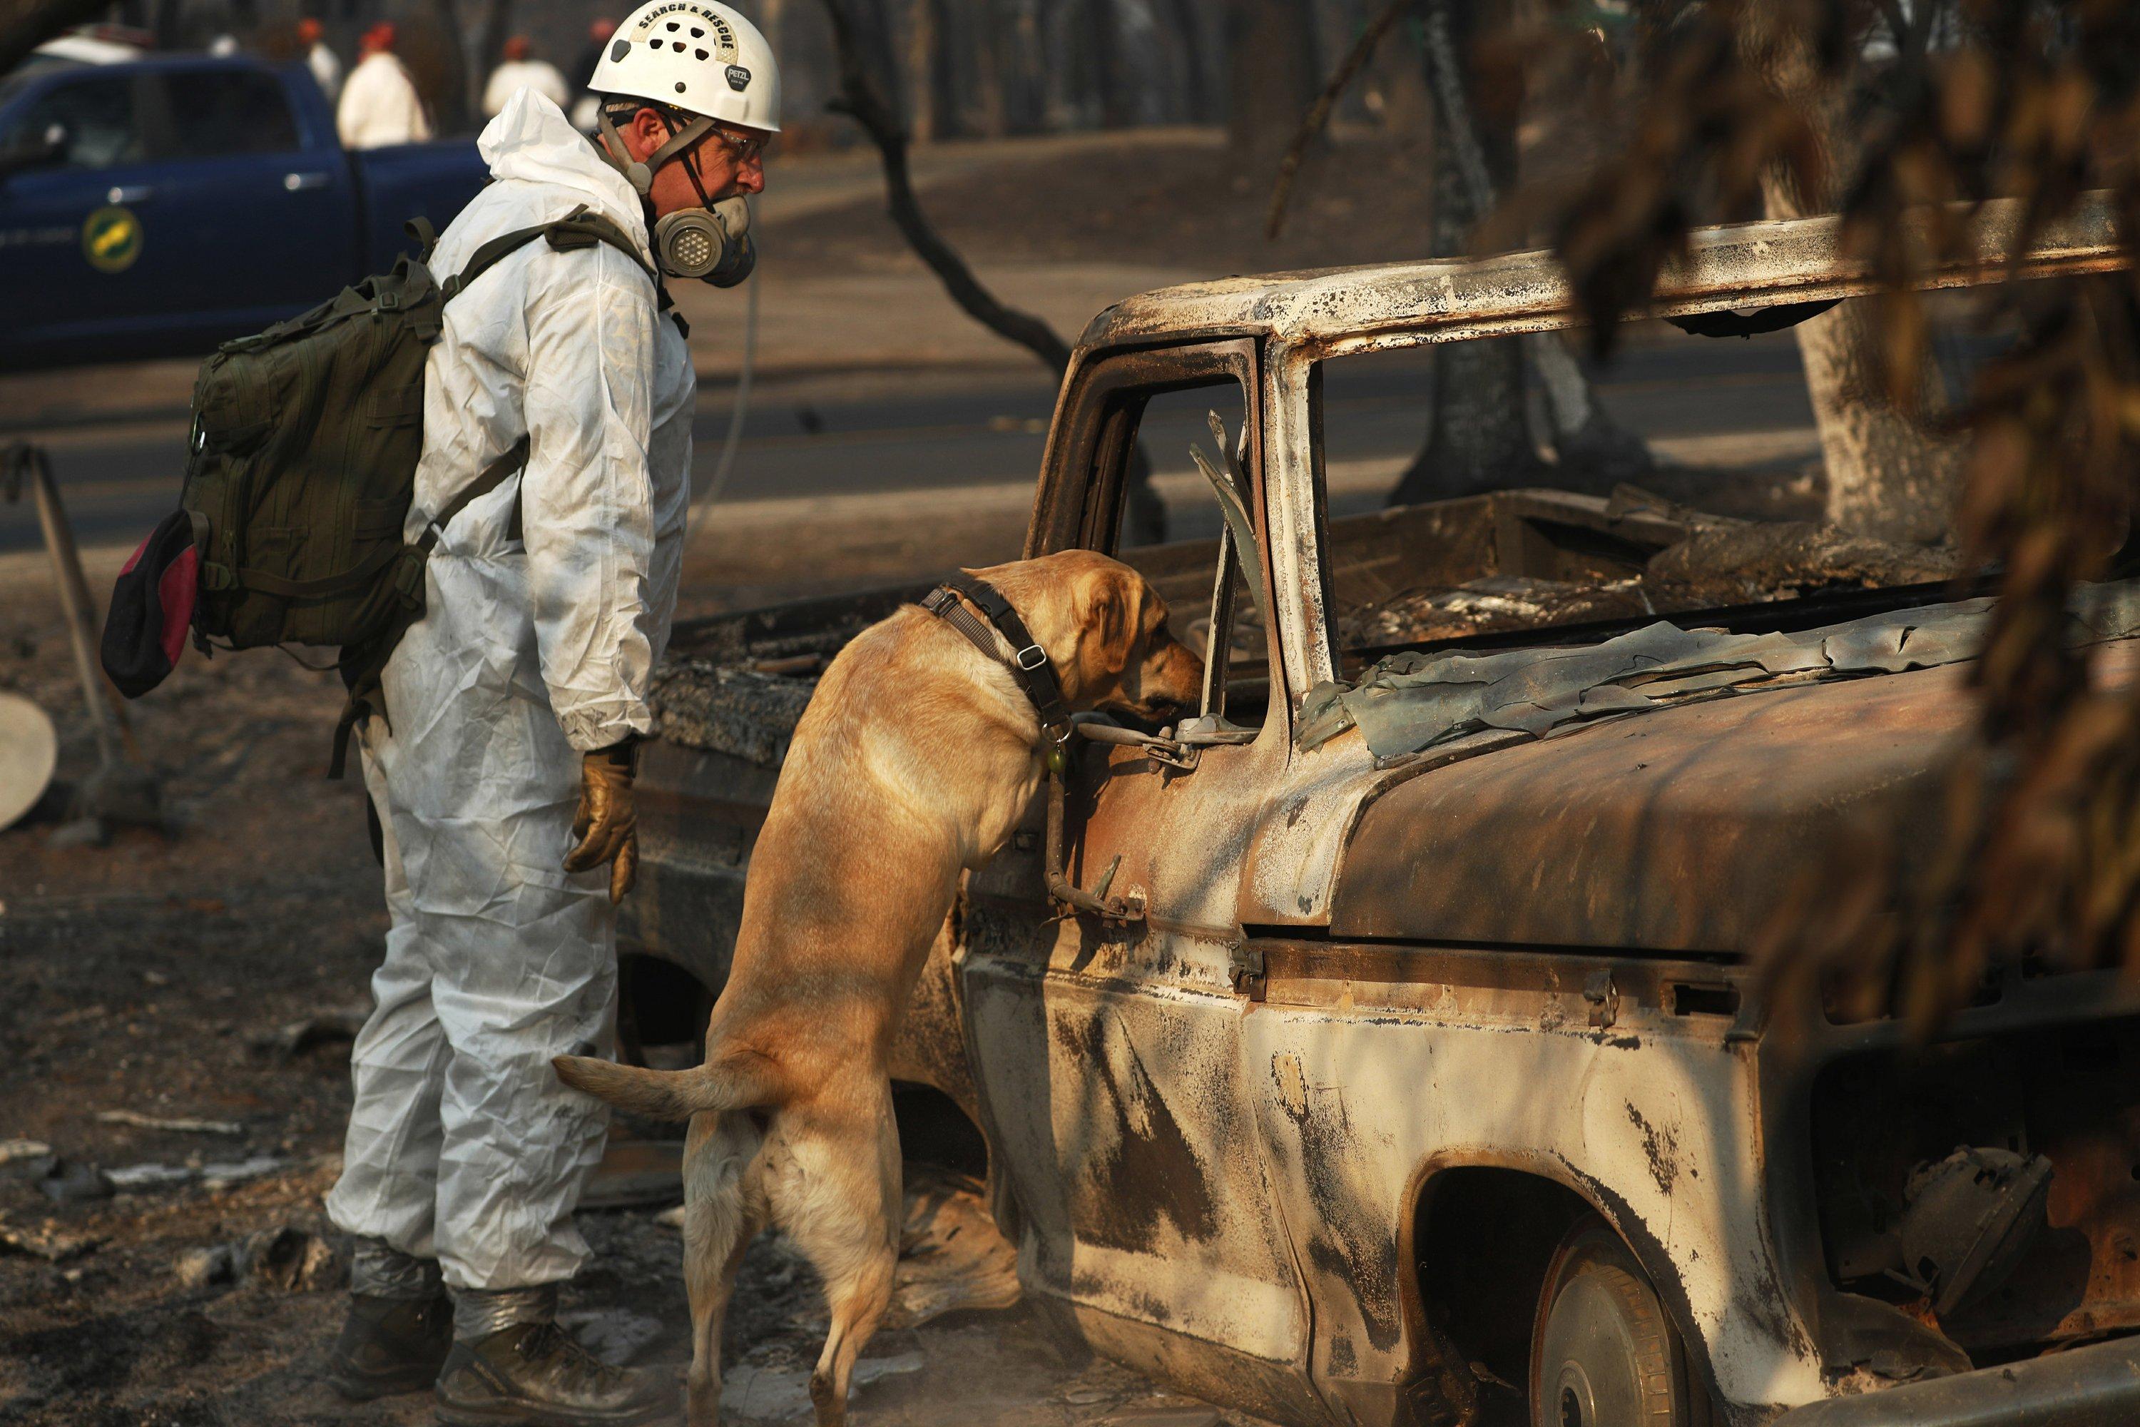
[[[1532,1427],[1693,1427],[1684,1361],[1641,1264],[1603,1219],[1579,1219],[1539,1292]]]

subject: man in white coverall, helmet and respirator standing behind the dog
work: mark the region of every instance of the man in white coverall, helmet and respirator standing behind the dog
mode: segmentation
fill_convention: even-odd
[[[452,282],[486,242],[580,210],[631,248],[526,242],[445,306],[404,537],[522,443],[524,466],[447,520],[385,717],[360,725],[392,929],[327,1196],[355,1237],[330,1376],[357,1399],[432,1386],[447,1423],[676,1403],[554,1322],[588,1262],[571,1213],[608,1110],[550,1057],[612,1046],[633,742],[691,498],[691,353],[655,274],[749,272],[743,195],[764,188],[779,75],[736,11],[655,0],[595,86],[599,143],[541,94],[511,98],[479,139],[494,182],[432,252]]]

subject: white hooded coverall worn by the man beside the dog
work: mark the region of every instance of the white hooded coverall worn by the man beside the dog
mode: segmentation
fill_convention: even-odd
[[[479,148],[496,182],[439,237],[441,280],[582,203],[646,250],[638,195],[548,98],[516,94]],[[522,434],[529,464],[439,539],[424,618],[381,676],[387,717],[360,730],[392,929],[327,1215],[437,1258],[454,1288],[533,1288],[588,1258],[571,1209],[608,1110],[550,1057],[614,1040],[616,922],[610,869],[561,862],[580,755],[653,727],[693,394],[653,282],[606,244],[522,246],[445,306],[430,351],[404,537]]]

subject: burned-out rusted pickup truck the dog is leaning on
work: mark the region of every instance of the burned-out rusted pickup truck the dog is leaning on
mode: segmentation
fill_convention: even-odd
[[[1935,282],[2125,263],[2086,210]],[[1832,225],[1748,225],[1654,310],[1862,291]],[[1068,1331],[1280,1423],[2140,1421],[2140,1001],[2022,967],[1911,1046],[1748,967],[1853,819],[1926,841],[1984,601],[1641,492],[1331,511],[1327,370],[1573,321],[1515,255],[1087,327],[1025,552],[1117,550],[1164,400],[1239,413],[1216,535],[1119,552],[1209,650],[1203,708],[1081,725],[969,879],[895,1059],[910,1149],[982,1147]],[[627,1055],[689,1055],[813,670],[924,588],[678,627]],[[2076,629],[2140,661],[2134,588]]]

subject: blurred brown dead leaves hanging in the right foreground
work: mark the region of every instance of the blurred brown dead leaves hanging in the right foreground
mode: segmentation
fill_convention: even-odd
[[[1843,214],[1877,278],[1885,398],[1924,389],[1930,263],[2018,210],[2020,255],[2084,193],[2140,218],[2140,9],[2123,0],[1656,0],[1614,88],[1624,143],[1562,205],[1556,246],[1609,344],[1691,225],[1759,216],[1763,175]],[[1830,171],[1808,103],[1862,135]],[[1866,828],[1804,881],[1766,958],[1858,1014],[1924,1031],[1986,971],[2029,956],[2140,969],[2140,695],[2101,687],[2065,638],[2074,586],[2116,565],[2140,439],[2140,287],[2131,272],[1984,289],[2012,336],[1947,421],[1969,441],[1962,569],[2001,603],[1973,685],[1937,856],[1894,871]],[[1896,916],[1900,911],[1900,916]]]

